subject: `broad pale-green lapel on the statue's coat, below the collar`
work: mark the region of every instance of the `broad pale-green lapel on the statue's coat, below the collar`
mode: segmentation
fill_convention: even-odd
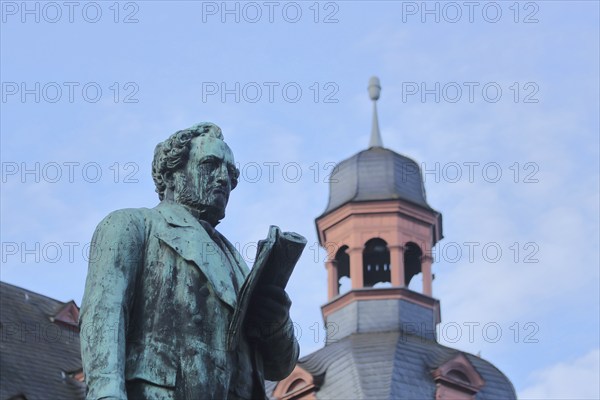
[[[231,282],[228,257],[223,257],[218,245],[183,206],[163,201],[156,209],[167,224],[165,229],[156,230],[155,236],[185,260],[193,262],[212,284],[217,296],[235,308],[237,294]],[[238,260],[238,257],[230,258]],[[240,266],[232,265],[231,268],[239,276]]]

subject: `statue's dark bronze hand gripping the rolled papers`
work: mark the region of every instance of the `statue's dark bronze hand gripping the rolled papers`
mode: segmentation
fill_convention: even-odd
[[[250,303],[246,320],[246,334],[252,339],[268,339],[277,333],[289,319],[292,301],[285,290],[275,285],[260,288]]]

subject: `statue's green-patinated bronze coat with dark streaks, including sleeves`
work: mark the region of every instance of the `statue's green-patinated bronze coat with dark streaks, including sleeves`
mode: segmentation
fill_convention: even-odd
[[[287,376],[298,343],[288,319],[227,350],[248,272],[231,243],[179,204],[109,214],[92,239],[81,306],[87,398],[126,399],[140,380],[173,399],[264,398],[263,374]]]

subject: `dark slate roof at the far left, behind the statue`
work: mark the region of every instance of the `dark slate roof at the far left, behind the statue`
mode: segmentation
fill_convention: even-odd
[[[70,306],[0,282],[0,400],[83,399],[79,332],[51,317]]]

